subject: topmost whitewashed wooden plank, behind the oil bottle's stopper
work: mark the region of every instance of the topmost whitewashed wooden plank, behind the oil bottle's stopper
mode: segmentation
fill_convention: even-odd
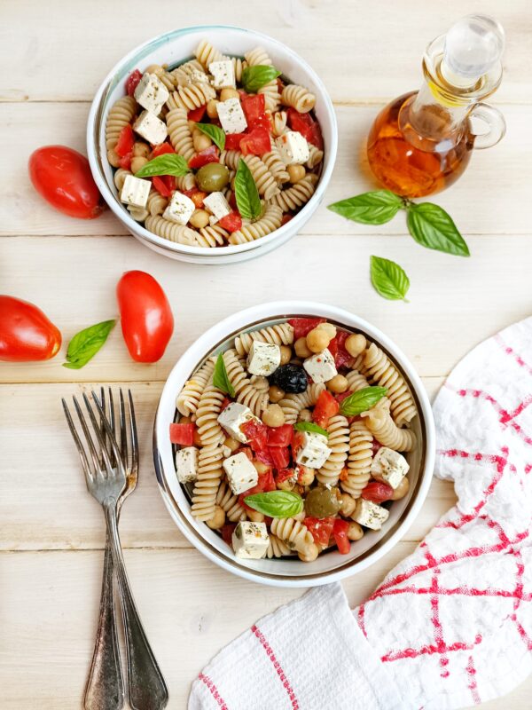
[[[105,15],[98,6],[105,8]],[[427,12],[423,0],[404,0],[400,11],[349,0],[334,4],[237,0],[228,14],[222,4],[196,0],[180,4],[176,22],[169,20],[176,18],[176,4],[160,0],[146,23],[141,0],[129,0],[127,21],[119,3],[4,0],[0,61],[10,71],[0,79],[0,98],[90,100],[111,67],[137,44],[172,26],[183,28],[204,20],[214,25],[236,22],[286,43],[309,61],[336,101],[379,101],[418,88],[426,44],[453,20],[468,12],[483,12],[497,17],[507,34],[505,78],[497,99],[530,101],[527,0],[506,4],[470,0],[466,6],[448,0],[444,8],[434,6],[431,11]]]

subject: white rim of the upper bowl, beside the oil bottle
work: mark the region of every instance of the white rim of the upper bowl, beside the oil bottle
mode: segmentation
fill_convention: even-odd
[[[325,151],[325,165],[324,170],[320,175],[319,181],[317,183],[317,188],[315,193],[312,195],[310,200],[300,209],[300,211],[291,219],[286,225],[280,226],[274,232],[266,234],[266,236],[261,237],[261,239],[255,241],[248,241],[245,244],[231,245],[228,247],[216,247],[214,250],[216,255],[220,256],[230,256],[232,254],[241,254],[244,251],[249,251],[254,248],[261,246],[261,244],[268,244],[270,241],[276,240],[279,236],[284,235],[287,232],[297,233],[301,227],[308,221],[309,217],[312,216],[313,212],[317,209],[319,202],[323,199],[325,194],[325,189],[331,180],[332,170],[334,169],[334,163],[336,162],[336,154],[338,149],[338,123],[336,121],[336,114],[334,112],[334,107],[332,106],[332,100],[329,96],[329,92],[325,88],[325,84],[321,78],[317,75],[317,72],[310,67],[305,59],[302,59],[299,54],[293,51],[285,43],[280,42],[278,39],[266,35],[263,32],[259,32],[254,29],[240,28],[236,25],[193,25],[187,28],[174,29],[169,32],[163,33],[161,35],[154,36],[152,39],[147,40],[142,44],[138,44],[133,50],[129,51],[122,59],[120,59],[111,71],[106,75],[104,81],[99,85],[98,91],[92,103],[90,105],[89,118],[87,121],[87,153],[90,162],[90,170],[92,176],[94,177],[100,193],[102,193],[107,206],[113,211],[114,215],[118,217],[121,222],[129,229],[129,232],[137,236],[136,233],[140,233],[146,241],[152,241],[160,247],[166,248],[169,251],[175,252],[177,254],[187,254],[190,256],[207,256],[207,251],[213,251],[213,249],[207,249],[203,247],[189,247],[186,244],[178,244],[176,242],[168,241],[153,232],[145,229],[144,226],[136,222],[129,213],[122,209],[121,203],[117,201],[116,196],[111,191],[105,174],[103,170],[103,165],[100,159],[100,154],[97,150],[99,146],[99,129],[101,122],[103,120],[104,104],[106,96],[114,88],[115,76],[121,70],[125,69],[131,63],[135,64],[137,57],[140,53],[155,44],[169,42],[175,37],[184,36],[192,32],[212,31],[212,30],[223,30],[231,29],[237,30],[238,32],[245,33],[247,35],[256,36],[258,40],[261,38],[267,39],[268,42],[275,43],[278,45],[281,51],[290,55],[297,63],[305,69],[309,75],[312,75],[313,81],[317,84],[321,96],[324,100],[325,110],[329,114],[331,120],[331,146],[327,146]],[[129,69],[131,67],[129,66]],[[280,246],[280,245],[279,245]],[[216,256],[213,255],[213,256]],[[209,255],[210,256],[210,255]]]

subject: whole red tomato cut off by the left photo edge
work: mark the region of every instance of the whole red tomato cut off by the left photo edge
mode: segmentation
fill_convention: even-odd
[[[14,296],[0,296],[0,360],[47,360],[60,347],[58,328],[40,308]]]

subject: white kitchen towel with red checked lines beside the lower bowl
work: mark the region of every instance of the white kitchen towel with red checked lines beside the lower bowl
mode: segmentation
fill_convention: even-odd
[[[434,404],[458,504],[354,611],[312,590],[227,646],[189,710],[451,710],[532,670],[532,318],[481,343]]]

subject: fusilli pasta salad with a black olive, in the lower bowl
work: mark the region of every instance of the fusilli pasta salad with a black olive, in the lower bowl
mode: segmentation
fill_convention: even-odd
[[[243,559],[347,554],[409,491],[418,414],[376,343],[320,318],[245,331],[176,398],[192,516]]]

